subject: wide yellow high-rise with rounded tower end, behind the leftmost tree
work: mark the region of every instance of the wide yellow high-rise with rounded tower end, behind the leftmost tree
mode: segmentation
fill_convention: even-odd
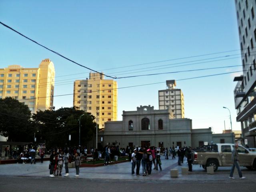
[[[39,68],[10,65],[0,69],[0,98],[13,97],[32,113],[53,107],[54,64],[44,59]]]

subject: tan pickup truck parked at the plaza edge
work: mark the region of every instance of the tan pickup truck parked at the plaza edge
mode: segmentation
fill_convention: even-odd
[[[202,165],[204,169],[213,166],[214,171],[217,171],[219,166],[232,166],[233,148],[234,144],[227,143],[202,146],[200,149],[194,150],[193,164]],[[243,146],[238,146],[237,151],[240,166],[256,170],[256,152],[250,152]]]

